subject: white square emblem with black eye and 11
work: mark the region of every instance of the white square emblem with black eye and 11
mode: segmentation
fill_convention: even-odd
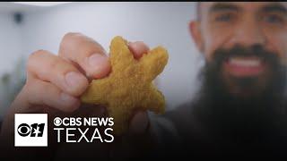
[[[48,146],[48,114],[15,114],[15,147]]]

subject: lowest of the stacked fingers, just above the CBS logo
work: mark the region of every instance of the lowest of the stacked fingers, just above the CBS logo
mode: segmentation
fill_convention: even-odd
[[[54,84],[42,81],[31,80],[22,89],[22,97],[29,106],[50,106],[64,112],[72,112],[80,106],[77,97],[66,94]]]

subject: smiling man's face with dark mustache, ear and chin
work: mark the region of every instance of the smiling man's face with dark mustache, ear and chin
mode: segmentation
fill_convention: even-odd
[[[206,63],[219,63],[230,93],[260,93],[274,77],[274,66],[287,64],[286,7],[279,2],[200,4],[191,33]]]

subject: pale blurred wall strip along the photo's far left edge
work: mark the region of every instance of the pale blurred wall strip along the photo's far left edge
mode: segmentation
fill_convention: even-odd
[[[10,76],[4,83],[3,75],[15,72],[16,64],[23,56],[22,28],[13,21],[12,13],[0,13],[0,118],[9,106],[14,85],[19,77]],[[6,77],[7,78],[7,77]]]

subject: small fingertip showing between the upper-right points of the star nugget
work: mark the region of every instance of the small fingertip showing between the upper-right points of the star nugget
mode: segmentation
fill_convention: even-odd
[[[143,41],[135,41],[128,44],[128,48],[134,54],[135,59],[139,59],[143,54],[147,54],[150,48]]]

